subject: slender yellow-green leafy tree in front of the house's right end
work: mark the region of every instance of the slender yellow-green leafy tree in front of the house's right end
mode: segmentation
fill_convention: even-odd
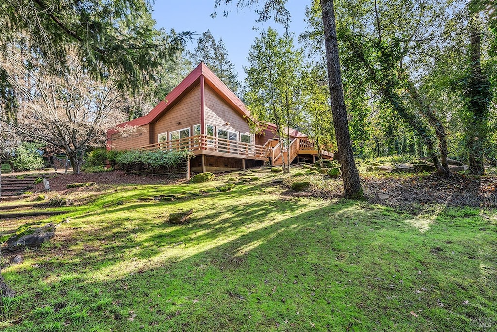
[[[301,60],[302,50],[293,47],[291,36],[280,37],[269,27],[255,38],[248,55],[250,67],[245,68],[248,109],[259,120],[276,125],[285,172],[290,171],[290,154],[285,158],[283,151],[290,147],[289,130],[300,111]]]

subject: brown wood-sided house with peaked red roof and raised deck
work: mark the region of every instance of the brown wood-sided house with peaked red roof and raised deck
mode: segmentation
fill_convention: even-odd
[[[314,159],[318,153],[307,136],[295,129],[290,129],[289,148],[281,153],[275,126],[256,122],[245,104],[204,63],[150,113],[118,127],[137,130],[128,136],[109,130],[108,149],[190,149],[195,154],[190,164],[193,172],[282,165],[282,155],[285,160],[290,155],[293,161],[298,156]],[[254,127],[258,128],[255,134]]]

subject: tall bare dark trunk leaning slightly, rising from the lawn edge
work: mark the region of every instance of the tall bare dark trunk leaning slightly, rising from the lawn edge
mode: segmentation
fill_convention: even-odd
[[[343,84],[338,58],[338,41],[333,0],[321,0],[323,27],[325,31],[326,64],[328,67],[328,84],[330,86],[331,112],[335,128],[337,149],[340,151],[340,165],[343,188],[346,198],[359,199],[364,196],[359,171],[355,165],[347,111],[343,97]]]

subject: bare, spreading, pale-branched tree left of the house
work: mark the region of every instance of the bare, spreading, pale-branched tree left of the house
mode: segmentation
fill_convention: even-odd
[[[69,54],[71,55],[71,54]],[[74,173],[80,172],[84,151],[104,145],[106,130],[125,119],[124,93],[112,78],[92,79],[74,56],[66,73],[55,76],[36,57],[9,58],[9,66],[25,75],[16,121],[10,124],[24,139],[43,142],[65,151]]]

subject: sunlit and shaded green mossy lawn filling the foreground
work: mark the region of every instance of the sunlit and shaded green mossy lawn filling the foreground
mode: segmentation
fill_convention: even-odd
[[[495,212],[438,206],[413,216],[295,198],[271,183],[288,175],[256,175],[171,202],[138,199],[228,176],[105,187],[47,219],[67,222],[2,270],[17,296],[0,329],[478,331],[477,320],[497,320]],[[164,222],[191,208],[187,224]]]

